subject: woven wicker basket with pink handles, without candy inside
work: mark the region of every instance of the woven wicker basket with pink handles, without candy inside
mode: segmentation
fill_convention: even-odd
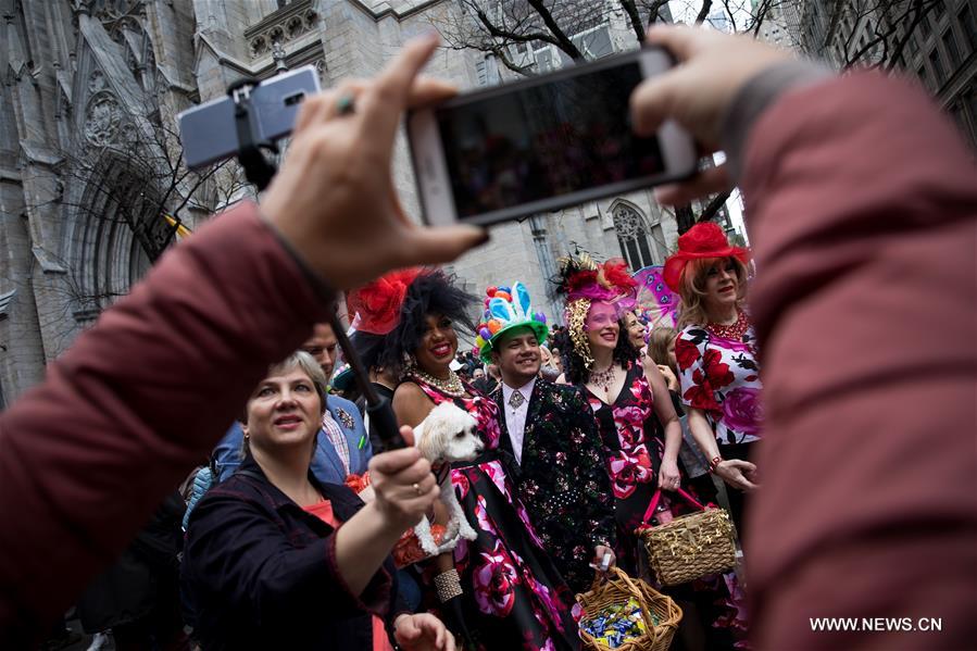
[[[703,508],[667,524],[638,527],[636,534],[644,542],[648,560],[663,586],[677,586],[736,566],[736,528],[723,509]]]

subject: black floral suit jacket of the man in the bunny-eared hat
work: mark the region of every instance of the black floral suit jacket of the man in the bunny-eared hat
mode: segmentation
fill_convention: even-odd
[[[577,387],[537,379],[529,399],[522,464],[516,464],[505,425],[501,385],[501,439],[510,477],[536,530],[574,590],[589,587],[597,544],[615,542],[614,500],[601,453],[597,422]]]

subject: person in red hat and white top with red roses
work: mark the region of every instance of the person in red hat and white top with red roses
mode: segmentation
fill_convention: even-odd
[[[675,341],[680,393],[689,429],[726,481],[734,523],[742,530],[743,491],[756,488],[750,463],[763,423],[756,335],[743,303],[747,250],[731,247],[712,222],[678,238],[664,278],[681,297]]]

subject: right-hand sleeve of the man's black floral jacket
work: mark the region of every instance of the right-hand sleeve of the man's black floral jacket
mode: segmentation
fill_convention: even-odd
[[[597,420],[580,389],[574,390],[569,409],[575,415],[574,427],[580,435],[580,445],[576,447],[576,452],[583,479],[581,490],[587,498],[587,522],[592,530],[590,540],[594,547],[603,543],[613,547],[617,540],[614,498],[611,492],[611,477],[604,462],[603,446],[597,430]]]

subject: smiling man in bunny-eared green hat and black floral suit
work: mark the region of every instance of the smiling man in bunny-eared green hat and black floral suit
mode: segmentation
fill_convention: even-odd
[[[546,316],[534,313],[525,286],[489,287],[476,345],[498,365],[500,449],[511,478],[554,564],[569,587],[589,589],[614,544],[614,504],[600,437],[583,391],[539,377]]]

